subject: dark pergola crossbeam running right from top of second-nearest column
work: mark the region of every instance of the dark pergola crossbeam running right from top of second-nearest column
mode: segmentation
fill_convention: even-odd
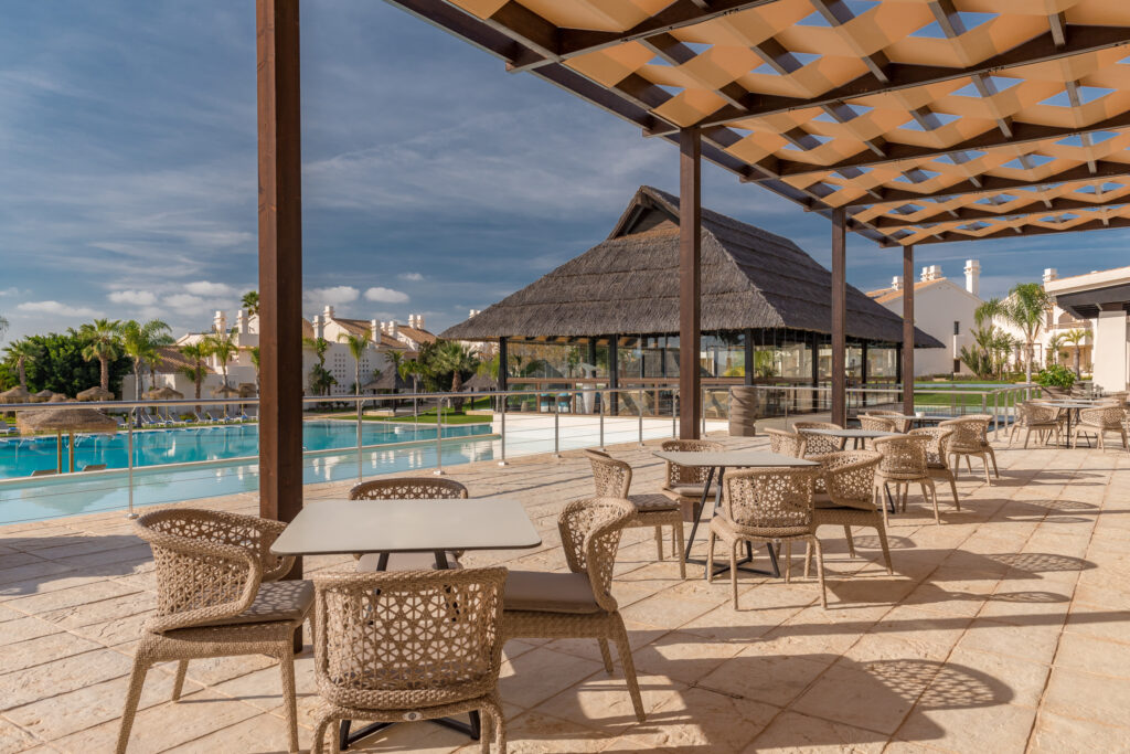
[[[968,68],[910,66],[892,62],[884,68],[884,76],[887,80],[877,77],[873,72],[868,72],[816,97],[758,95],[756,104],[750,107],[741,109],[727,105],[702,119],[696,125],[699,128],[723,125],[747,118],[762,118],[793,110],[820,107],[875,94],[953,81],[977,73],[992,75],[1003,72],[1007,76],[1007,69],[1009,68],[1059,60],[1085,52],[1106,50],[1128,44],[1130,44],[1130,28],[1128,27],[1071,25],[1070,36],[1063,46],[1057,46],[1054,36],[1051,32],[1048,32]],[[662,130],[658,130],[652,132],[652,135],[661,136],[663,132]]]

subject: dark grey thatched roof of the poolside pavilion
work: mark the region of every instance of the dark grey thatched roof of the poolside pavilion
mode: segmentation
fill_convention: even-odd
[[[679,200],[641,187],[611,235],[442,337],[584,337],[679,331]],[[703,331],[832,331],[832,274],[792,241],[702,211]],[[902,343],[903,321],[847,286],[847,336]],[[918,331],[915,345],[942,344]]]

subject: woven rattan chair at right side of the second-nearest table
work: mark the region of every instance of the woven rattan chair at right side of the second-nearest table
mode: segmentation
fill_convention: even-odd
[[[883,514],[875,504],[875,469],[883,457],[873,450],[847,450],[827,456],[814,457],[820,462],[827,492],[812,499],[812,515],[816,526],[842,526],[847,538],[847,554],[855,557],[855,543],[851,528],[870,527],[879,535],[883,562],[887,573],[890,567],[890,548],[887,546],[887,529]],[[805,575],[811,565],[811,548],[805,554]]]

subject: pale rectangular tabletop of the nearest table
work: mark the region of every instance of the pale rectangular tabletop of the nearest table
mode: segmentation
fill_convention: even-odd
[[[541,544],[516,500],[318,500],[271,546],[276,555],[528,549]]]

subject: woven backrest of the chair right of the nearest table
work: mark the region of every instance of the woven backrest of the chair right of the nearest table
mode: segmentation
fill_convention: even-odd
[[[635,513],[635,506],[624,499],[588,497],[573,501],[557,517],[570,571],[589,574],[597,604],[609,613],[617,607],[612,598],[612,569],[620,532]]]

